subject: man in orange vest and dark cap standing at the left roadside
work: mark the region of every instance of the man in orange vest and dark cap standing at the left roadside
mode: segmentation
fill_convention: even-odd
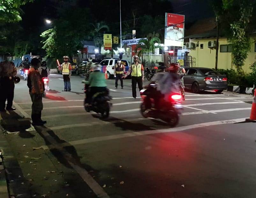
[[[33,125],[41,126],[46,124],[46,121],[41,120],[41,112],[43,110],[42,93],[44,92],[44,86],[38,72],[40,60],[38,58],[33,58],[31,60],[31,65],[27,78],[27,86],[29,88],[29,95],[32,101],[31,119]]]

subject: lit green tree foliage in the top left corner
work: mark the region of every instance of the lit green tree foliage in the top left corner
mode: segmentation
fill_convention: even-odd
[[[17,22],[21,20],[19,8],[28,2],[33,0],[4,0],[0,3],[0,22]]]

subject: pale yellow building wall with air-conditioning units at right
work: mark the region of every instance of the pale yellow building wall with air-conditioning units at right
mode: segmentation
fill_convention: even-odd
[[[252,38],[256,39],[256,37]],[[208,48],[208,41],[216,40],[216,38],[205,38],[205,39],[190,39],[190,42],[195,44],[194,49],[190,49],[189,56],[196,59],[194,67],[208,67],[215,68],[215,56],[216,49]],[[200,44],[203,44],[203,49],[200,49]],[[220,69],[235,69],[232,65],[231,52],[220,52],[220,45],[227,45],[226,38],[219,39],[219,52],[218,52],[218,68]],[[245,72],[250,72],[249,66],[256,61],[255,43],[252,43],[251,52],[248,53],[248,57],[245,61],[243,69]]]

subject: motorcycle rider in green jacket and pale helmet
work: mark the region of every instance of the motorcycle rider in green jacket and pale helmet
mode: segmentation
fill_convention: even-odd
[[[107,88],[105,75],[101,72],[101,65],[95,64],[93,66],[93,72],[90,74],[88,81],[82,81],[82,83],[89,85],[85,99],[87,105],[91,104],[91,99],[94,94],[106,91]]]

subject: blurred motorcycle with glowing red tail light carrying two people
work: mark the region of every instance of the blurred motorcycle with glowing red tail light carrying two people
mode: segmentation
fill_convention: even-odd
[[[181,95],[179,93],[171,94],[168,102],[165,101],[163,97],[160,97],[158,108],[155,108],[154,99],[149,97],[149,95],[152,95],[150,92],[155,92],[155,89],[156,84],[152,83],[140,91],[143,101],[141,104],[142,116],[145,118],[152,117],[161,119],[167,122],[171,127],[176,126],[179,123],[179,116],[183,110],[181,105]]]

